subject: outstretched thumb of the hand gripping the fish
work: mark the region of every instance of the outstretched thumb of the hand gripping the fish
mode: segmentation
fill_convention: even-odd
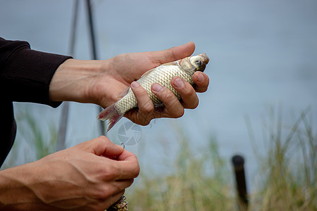
[[[179,60],[187,56],[191,56],[194,53],[195,44],[189,41],[187,44],[181,46],[175,46],[163,51],[152,51],[151,56],[154,63],[161,65],[163,63],[169,63],[174,60]]]

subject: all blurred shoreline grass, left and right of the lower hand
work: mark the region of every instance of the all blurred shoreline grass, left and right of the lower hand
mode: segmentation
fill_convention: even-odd
[[[263,145],[252,146],[259,169],[251,181],[248,210],[317,210],[317,129],[310,108],[302,111],[291,125],[283,122],[281,106],[269,108],[263,120]],[[44,141],[35,119],[25,112],[17,117],[23,139],[30,140],[26,150],[18,144],[3,168],[16,165],[24,154],[25,162],[53,153],[56,127],[50,126],[49,141]],[[251,144],[255,143],[251,118],[245,116]],[[50,124],[51,125],[51,124]],[[217,141],[196,156],[178,124],[173,129],[180,137],[180,150],[169,174],[149,174],[143,170],[137,185],[126,190],[129,210],[241,210],[237,205],[232,166],[221,157]],[[46,132],[47,133],[47,132]],[[33,141],[32,141],[33,140]],[[20,143],[20,142],[18,142]],[[33,149],[34,156],[27,155]]]

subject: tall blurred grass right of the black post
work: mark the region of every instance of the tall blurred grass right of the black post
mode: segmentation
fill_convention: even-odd
[[[317,210],[317,131],[309,113],[307,108],[284,127],[281,108],[276,114],[271,109],[250,210]]]

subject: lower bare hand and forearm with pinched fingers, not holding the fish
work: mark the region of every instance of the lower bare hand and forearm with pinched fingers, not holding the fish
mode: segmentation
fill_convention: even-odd
[[[139,174],[105,136],[0,172],[0,210],[105,210]]]

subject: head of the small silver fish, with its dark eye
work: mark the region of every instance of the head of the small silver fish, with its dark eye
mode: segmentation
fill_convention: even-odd
[[[206,65],[209,63],[209,58],[206,53],[201,53],[197,56],[189,56],[180,60],[182,70],[188,72],[201,71],[204,72]]]

